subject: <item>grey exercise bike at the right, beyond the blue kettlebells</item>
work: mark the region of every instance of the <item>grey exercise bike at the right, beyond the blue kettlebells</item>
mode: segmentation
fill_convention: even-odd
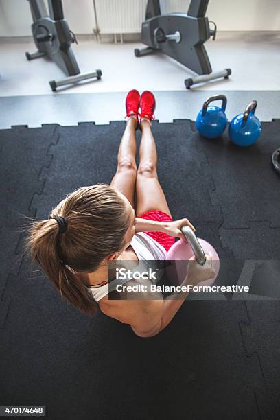
[[[189,89],[194,84],[209,82],[218,78],[229,78],[231,69],[212,72],[211,64],[204,43],[209,38],[215,40],[216,25],[211,30],[205,17],[209,0],[191,0],[189,10],[185,13],[165,12],[164,0],[148,0],[145,21],[142,23],[141,40],[148,45],[135,49],[135,56],[141,57],[160,51],[182,65],[188,67],[196,78],[185,80]]]

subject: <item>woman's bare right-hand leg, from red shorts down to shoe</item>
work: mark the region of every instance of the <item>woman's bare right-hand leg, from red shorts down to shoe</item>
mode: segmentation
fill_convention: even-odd
[[[142,119],[140,128],[142,138],[139,148],[139,167],[136,180],[136,214],[141,215],[149,210],[161,210],[171,216],[156,172],[156,144],[154,143],[150,121]]]

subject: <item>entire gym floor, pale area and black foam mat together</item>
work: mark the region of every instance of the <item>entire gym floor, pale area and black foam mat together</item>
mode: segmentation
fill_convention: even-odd
[[[49,88],[63,77],[56,65],[25,59],[31,38],[0,40],[0,405],[43,404],[50,420],[279,420],[280,196],[270,165],[280,143],[279,38],[218,34],[207,51],[213,70],[231,67],[231,78],[187,91],[191,73],[173,60],[135,58],[139,43],[78,36],[81,71],[100,68],[102,80],[58,93]],[[159,178],[172,215],[187,211],[215,246],[226,284],[252,280],[246,298],[188,296],[148,340],[102,312],[89,318],[67,305],[21,257],[19,233],[22,215],[47,218],[69,191],[110,182],[131,88],[156,95]],[[194,130],[190,120],[215,93],[226,94],[229,119],[258,101],[266,122],[251,148]],[[268,294],[256,292],[264,278]]]

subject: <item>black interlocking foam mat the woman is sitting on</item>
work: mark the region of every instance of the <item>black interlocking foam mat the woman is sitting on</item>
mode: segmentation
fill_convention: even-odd
[[[280,179],[270,162],[266,167],[262,161],[278,146],[277,127],[277,122],[264,124],[257,149],[252,149],[251,159],[244,159],[241,151],[231,153],[231,146],[222,144],[226,137],[205,143],[191,121],[153,123],[159,179],[172,215],[189,218],[198,237],[211,242],[221,258],[277,258],[275,189]],[[278,301],[255,302],[254,311],[243,301],[187,301],[159,336],[141,339],[128,325],[101,313],[89,318],[69,307],[26,257],[12,265],[21,248],[20,235],[9,236],[9,229],[21,225],[14,215],[47,218],[69,191],[110,183],[123,130],[123,122],[113,121],[1,132],[11,156],[2,159],[1,171],[11,174],[11,181],[5,175],[3,204],[12,206],[4,209],[0,221],[5,232],[0,260],[5,313],[0,312],[1,404],[43,404],[49,419],[277,419]],[[269,145],[263,148],[266,138]],[[32,142],[33,148],[24,147]],[[17,145],[20,154],[10,150]],[[11,159],[16,162],[13,167]],[[265,184],[259,183],[260,160]],[[246,186],[239,187],[246,202],[240,202],[233,182],[235,167],[235,182],[242,182],[243,170],[248,176]],[[257,185],[271,189],[274,206],[264,206],[261,200],[268,201],[269,191]],[[226,195],[231,189],[235,193]],[[264,218],[257,220],[261,211]],[[235,229],[229,229],[231,223]]]

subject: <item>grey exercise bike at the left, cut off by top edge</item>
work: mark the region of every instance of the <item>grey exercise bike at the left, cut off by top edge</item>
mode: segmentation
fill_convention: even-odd
[[[48,0],[49,14],[44,0],[27,1],[30,3],[32,13],[34,43],[38,49],[34,54],[26,52],[27,60],[48,56],[69,76],[62,80],[51,80],[49,84],[52,91],[56,91],[57,87],[65,84],[73,84],[91,78],[100,79],[102,76],[100,69],[90,73],[80,73],[78,63],[71,49],[71,44],[77,43],[77,40],[64,19],[62,1]]]

